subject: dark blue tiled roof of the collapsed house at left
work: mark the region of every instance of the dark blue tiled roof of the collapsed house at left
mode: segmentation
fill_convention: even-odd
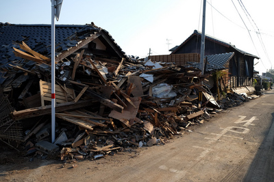
[[[90,34],[104,32],[112,42],[114,39],[104,29],[95,25],[55,25],[55,49],[62,52],[75,46]],[[51,54],[51,25],[12,25],[0,23],[0,67],[5,62],[21,60],[15,57],[13,48],[20,48],[18,43],[24,41],[27,46],[42,55]],[[116,47],[121,48],[114,42]],[[123,52],[121,50],[121,52]],[[124,53],[124,52],[123,52]]]

